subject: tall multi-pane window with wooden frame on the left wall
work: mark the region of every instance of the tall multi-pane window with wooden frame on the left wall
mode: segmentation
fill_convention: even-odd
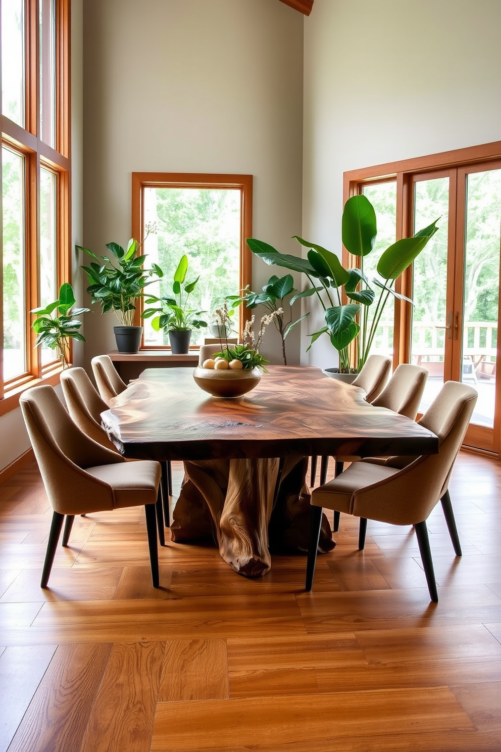
[[[0,413],[59,368],[34,347],[29,311],[69,268],[69,0],[2,2]]]

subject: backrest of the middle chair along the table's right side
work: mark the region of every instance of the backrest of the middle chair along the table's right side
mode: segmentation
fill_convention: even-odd
[[[420,365],[397,365],[390,381],[371,404],[415,420],[427,377],[428,371]]]

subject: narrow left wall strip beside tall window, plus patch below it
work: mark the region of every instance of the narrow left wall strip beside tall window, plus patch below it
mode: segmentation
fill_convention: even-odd
[[[83,223],[83,84],[82,84],[82,3],[71,0],[71,247],[80,243]],[[72,253],[73,287],[77,302],[83,298],[82,274]],[[83,347],[74,348],[74,363],[83,362]],[[29,450],[30,443],[20,408],[0,417],[0,471]]]

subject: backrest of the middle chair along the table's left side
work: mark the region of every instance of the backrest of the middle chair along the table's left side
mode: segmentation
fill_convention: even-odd
[[[94,441],[115,450],[101,426],[101,413],[108,409],[108,405],[95,390],[86,371],[78,366],[67,368],[62,371],[60,380],[71,420]]]

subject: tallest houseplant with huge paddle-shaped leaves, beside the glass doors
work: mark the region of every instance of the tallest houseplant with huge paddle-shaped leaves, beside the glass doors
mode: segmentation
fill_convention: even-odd
[[[318,244],[294,238],[309,248],[306,259],[279,253],[263,241],[249,238],[247,244],[267,264],[274,264],[291,271],[306,274],[312,287],[298,293],[294,299],[317,296],[324,310],[324,323],[318,332],[311,336],[309,347],[323,334],[330,338],[340,356],[340,373],[352,371],[349,358],[349,345],[355,341],[357,368],[360,371],[370,354],[376,329],[390,295],[412,301],[396,293],[394,282],[412,261],[421,253],[427,242],[437,231],[435,220],[428,227],[417,232],[412,238],[402,238],[382,252],[377,264],[380,279],[368,280],[360,268],[345,269],[335,253]],[[377,235],[376,212],[366,196],[352,196],[343,211],[343,244],[355,256],[367,256],[373,250]],[[382,290],[371,315],[370,306],[376,293],[371,284]],[[343,302],[344,296],[349,300]],[[308,350],[309,350],[308,347]]]

